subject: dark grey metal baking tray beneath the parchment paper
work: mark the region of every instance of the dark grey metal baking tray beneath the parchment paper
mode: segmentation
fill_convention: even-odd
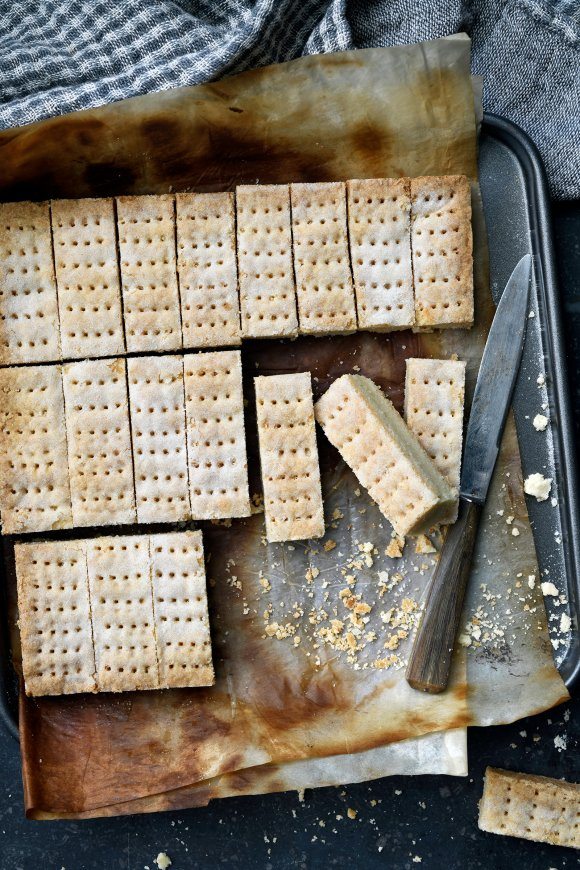
[[[549,220],[549,196],[544,170],[533,143],[515,125],[486,115],[480,139],[480,183],[489,234],[490,274],[497,301],[509,275],[523,254],[531,252],[536,282],[522,369],[514,398],[514,413],[520,439],[524,473],[542,471],[554,478],[548,501],[529,504],[542,579],[553,582],[566,597],[565,605],[547,599],[551,628],[566,612],[574,629],[565,643],[558,640],[556,663],[568,687],[580,672],[580,638],[577,632],[580,601],[580,539],[575,487],[574,447],[565,348],[559,314]],[[539,391],[536,379],[545,374]],[[546,402],[551,425],[545,433],[532,427],[533,417]],[[533,412],[533,413],[532,413]],[[566,469],[556,474],[555,468]],[[561,541],[561,544],[557,543]],[[1,568],[0,568],[1,570]],[[548,572],[547,574],[545,572]],[[2,578],[4,580],[4,578]],[[0,606],[0,718],[18,739],[18,685],[11,664],[5,583],[1,583]]]

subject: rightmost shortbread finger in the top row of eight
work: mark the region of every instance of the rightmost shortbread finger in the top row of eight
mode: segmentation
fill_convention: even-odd
[[[417,329],[473,324],[471,188],[465,175],[411,179]]]

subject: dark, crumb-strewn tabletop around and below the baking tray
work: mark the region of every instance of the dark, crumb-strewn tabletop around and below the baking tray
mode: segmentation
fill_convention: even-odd
[[[578,439],[580,202],[555,204],[553,229]],[[556,737],[564,738],[565,750],[554,743]],[[294,793],[125,819],[28,822],[18,745],[0,732],[0,868],[156,870],[160,851],[167,852],[175,870],[216,865],[264,870],[577,867],[573,850],[482,833],[477,803],[488,764],[580,781],[579,746],[577,698],[513,725],[470,729],[466,778],[390,777],[307,791],[303,802]],[[357,810],[355,820],[347,817],[349,807]]]

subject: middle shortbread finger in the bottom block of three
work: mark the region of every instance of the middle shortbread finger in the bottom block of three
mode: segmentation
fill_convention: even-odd
[[[87,565],[99,691],[158,688],[149,537],[89,540]]]

